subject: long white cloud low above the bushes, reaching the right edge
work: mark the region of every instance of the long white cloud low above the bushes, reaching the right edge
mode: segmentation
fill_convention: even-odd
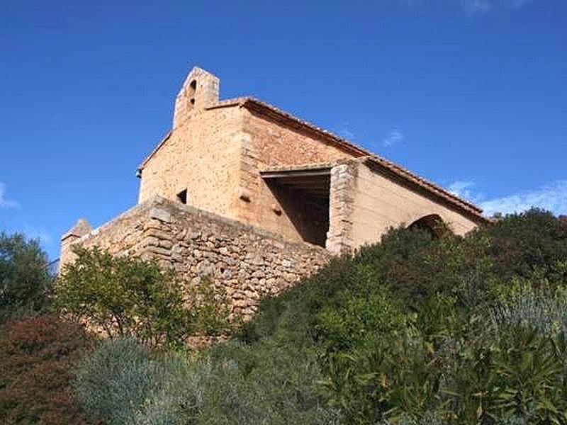
[[[520,212],[532,207],[549,210],[556,215],[567,213],[567,180],[555,181],[533,191],[485,200],[481,203],[486,215],[495,212]]]

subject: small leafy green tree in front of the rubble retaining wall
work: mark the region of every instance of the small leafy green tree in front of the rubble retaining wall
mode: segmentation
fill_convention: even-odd
[[[211,296],[207,283],[185,290],[174,271],[162,270],[156,261],[113,256],[98,248],[79,247],[75,254],[77,260],[57,279],[55,306],[103,329],[110,338],[134,336],[156,346],[228,329],[223,294],[215,291]],[[210,314],[215,319],[208,318]]]

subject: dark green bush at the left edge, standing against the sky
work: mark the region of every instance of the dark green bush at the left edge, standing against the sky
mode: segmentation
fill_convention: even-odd
[[[0,322],[47,305],[52,278],[38,241],[0,232]]]

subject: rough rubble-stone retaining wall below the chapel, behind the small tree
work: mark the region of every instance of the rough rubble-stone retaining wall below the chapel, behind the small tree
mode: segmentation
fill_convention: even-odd
[[[319,246],[289,242],[265,230],[155,196],[73,242],[157,259],[197,283],[212,278],[233,314],[257,310],[260,298],[289,288],[330,259]],[[64,262],[72,261],[62,256]]]

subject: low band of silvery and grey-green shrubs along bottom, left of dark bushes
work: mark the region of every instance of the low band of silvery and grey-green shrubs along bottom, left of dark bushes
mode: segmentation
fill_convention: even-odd
[[[260,353],[222,350],[235,356],[187,358],[151,353],[133,339],[106,341],[79,365],[79,399],[107,424],[338,423],[318,401],[313,358],[279,356],[250,369]]]

